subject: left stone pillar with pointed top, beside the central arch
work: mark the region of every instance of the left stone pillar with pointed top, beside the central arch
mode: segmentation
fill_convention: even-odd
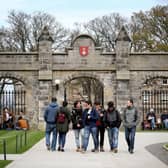
[[[52,38],[44,27],[39,37],[39,125],[44,128],[43,115],[52,97]]]

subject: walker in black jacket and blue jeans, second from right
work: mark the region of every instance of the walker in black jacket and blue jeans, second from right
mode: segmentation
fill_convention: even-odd
[[[108,102],[108,108],[104,115],[104,122],[108,131],[108,139],[110,144],[110,151],[118,152],[118,135],[119,127],[121,125],[121,117],[118,110],[114,107],[112,101]]]

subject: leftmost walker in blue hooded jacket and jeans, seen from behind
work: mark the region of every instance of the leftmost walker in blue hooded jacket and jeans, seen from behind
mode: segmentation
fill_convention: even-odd
[[[46,122],[46,146],[48,150],[55,151],[56,150],[56,142],[57,142],[57,129],[56,129],[56,116],[58,111],[57,99],[55,97],[52,98],[51,103],[46,108],[44,113],[44,121]],[[52,139],[50,139],[50,135],[52,133]]]

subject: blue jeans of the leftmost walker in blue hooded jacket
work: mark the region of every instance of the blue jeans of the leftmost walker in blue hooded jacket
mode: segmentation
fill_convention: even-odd
[[[50,142],[50,136],[52,133],[52,139]],[[56,150],[56,142],[57,142],[57,130],[56,124],[46,124],[46,145],[50,146],[51,150]]]

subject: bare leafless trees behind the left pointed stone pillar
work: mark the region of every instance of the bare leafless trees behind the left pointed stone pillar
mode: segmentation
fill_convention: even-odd
[[[42,12],[28,15],[14,10],[8,15],[9,27],[0,29],[0,47],[2,51],[36,51],[38,38],[44,28],[49,27],[53,37],[53,50],[64,47],[68,41],[68,31],[56,19]]]

